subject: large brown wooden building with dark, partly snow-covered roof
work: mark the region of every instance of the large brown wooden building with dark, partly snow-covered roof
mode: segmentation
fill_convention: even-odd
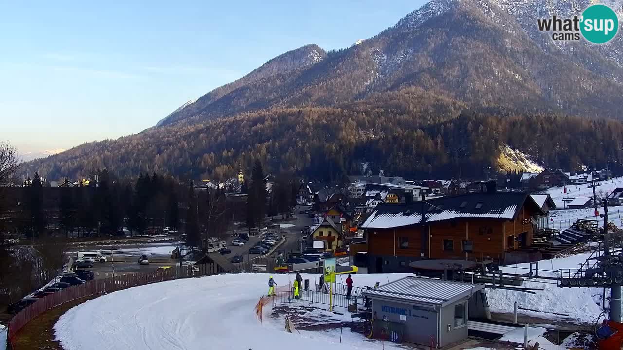
[[[541,215],[525,192],[497,192],[491,182],[486,192],[378,204],[360,226],[368,237],[368,272],[409,272],[409,263],[422,258],[526,260],[520,252],[531,246]]]

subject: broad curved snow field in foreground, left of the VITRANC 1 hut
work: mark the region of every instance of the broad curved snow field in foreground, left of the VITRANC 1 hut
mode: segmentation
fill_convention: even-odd
[[[356,286],[387,283],[407,273],[355,275]],[[65,350],[82,349],[379,349],[378,341],[343,329],[286,333],[283,319],[264,317],[254,306],[268,291],[266,274],[243,273],[154,283],[115,291],[75,306],[54,326]],[[275,275],[278,286],[287,275]],[[314,281],[318,275],[303,274]],[[265,314],[268,315],[268,312]],[[85,327],[85,324],[89,324]],[[387,349],[399,349],[385,344]]]

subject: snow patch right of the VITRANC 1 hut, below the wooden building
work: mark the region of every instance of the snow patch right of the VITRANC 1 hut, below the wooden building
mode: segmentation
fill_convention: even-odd
[[[590,253],[584,253],[552,260],[541,260],[539,262],[539,275],[556,277],[556,270],[578,268],[578,263],[584,263],[590,255]],[[506,273],[526,273],[529,272],[530,264],[520,263],[505,266],[502,269]],[[526,280],[522,288],[543,288],[543,290],[531,294],[514,290],[488,289],[487,298],[491,311],[511,312],[513,303],[517,301],[521,308],[546,311],[521,310],[520,312],[523,314],[548,319],[569,319],[583,323],[594,323],[602,311],[602,288],[560,288],[555,281],[540,279]],[[608,295],[609,291],[606,291],[606,297]]]

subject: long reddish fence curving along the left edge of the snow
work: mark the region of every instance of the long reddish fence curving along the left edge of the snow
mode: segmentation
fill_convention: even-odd
[[[31,319],[36,318],[45,311],[69,301],[84,298],[86,296],[108,293],[111,291],[123,290],[133,286],[148,285],[161,281],[177,280],[179,278],[209,276],[219,273],[220,268],[214,263],[173,267],[167,270],[156,270],[155,272],[134,273],[132,275],[103,278],[92,280],[82,285],[70,286],[64,290],[55,292],[37,300],[24,310],[19,311],[9,322],[7,340],[11,344],[11,349],[19,350],[15,346],[15,336]]]

